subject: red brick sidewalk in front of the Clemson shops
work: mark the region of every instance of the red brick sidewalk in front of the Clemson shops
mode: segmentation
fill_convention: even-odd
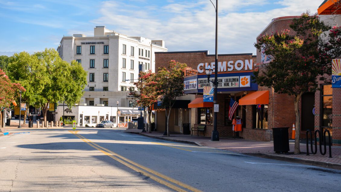
[[[329,158],[329,150],[327,146],[327,152],[323,156],[320,153],[319,146],[317,146],[317,153],[311,154],[309,144],[309,156],[307,156],[306,144],[300,144],[301,154],[293,154],[294,142],[289,142],[290,151],[289,154],[277,154],[273,151],[273,142],[260,142],[251,141],[246,139],[233,139],[233,138],[220,138],[220,141],[210,141],[210,137],[204,136],[191,136],[183,134],[171,134],[170,137],[163,136],[163,133],[152,132],[152,133],[139,133],[140,135],[164,139],[167,141],[190,143],[199,146],[218,148],[228,151],[234,151],[242,154],[248,154],[257,157],[276,159],[294,163],[302,163],[308,165],[322,166],[326,168],[340,169],[341,170],[341,146],[332,146],[331,155]],[[315,147],[313,146],[313,149]],[[322,151],[324,147],[322,146]]]

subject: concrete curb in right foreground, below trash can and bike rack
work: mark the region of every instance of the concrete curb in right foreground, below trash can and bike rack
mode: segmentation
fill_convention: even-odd
[[[287,161],[287,162],[291,162],[291,163],[301,163],[301,164],[306,164],[306,165],[313,165],[313,166],[318,166],[318,167],[325,167],[325,168],[341,170],[341,164],[338,164],[338,163],[312,161],[312,160],[308,160],[308,159],[301,159],[301,158],[296,158],[296,157],[293,158],[293,157],[286,157],[286,156],[282,156],[282,155],[266,154],[266,153],[243,153],[243,154],[267,158],[267,159]]]

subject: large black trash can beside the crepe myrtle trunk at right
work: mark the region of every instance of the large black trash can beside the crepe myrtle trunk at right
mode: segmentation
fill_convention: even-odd
[[[273,151],[276,153],[287,153],[289,148],[288,127],[272,128]]]

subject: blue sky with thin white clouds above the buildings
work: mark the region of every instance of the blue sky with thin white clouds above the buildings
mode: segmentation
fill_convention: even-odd
[[[256,36],[271,19],[315,13],[322,2],[219,0],[218,54],[255,54]],[[215,11],[209,0],[0,0],[0,23],[0,55],[57,48],[63,35],[93,36],[93,28],[102,25],[162,39],[168,51],[215,51]]]

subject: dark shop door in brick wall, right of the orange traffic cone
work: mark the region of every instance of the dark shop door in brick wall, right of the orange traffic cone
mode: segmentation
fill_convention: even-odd
[[[313,114],[313,108],[315,104],[315,93],[303,93],[301,101],[302,131],[307,131],[308,129],[314,131],[315,117]]]

